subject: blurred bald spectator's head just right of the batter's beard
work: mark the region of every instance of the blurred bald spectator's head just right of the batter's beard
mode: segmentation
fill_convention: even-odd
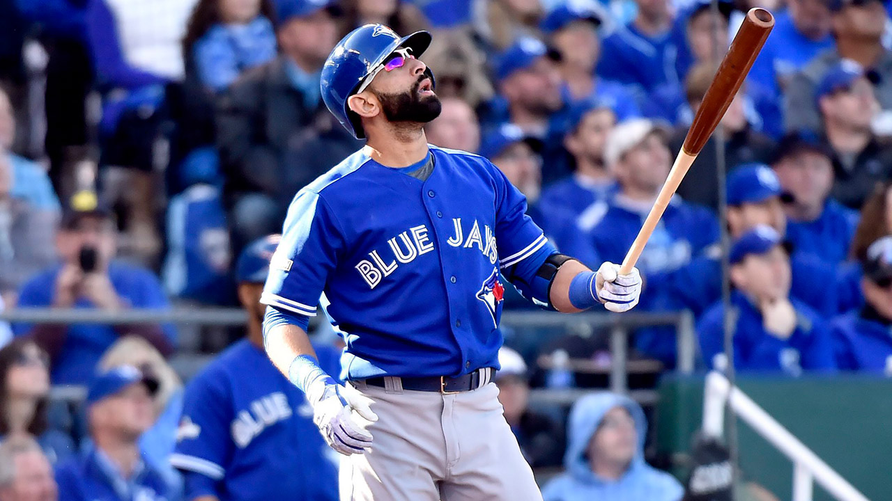
[[[437,78],[437,92],[440,89]],[[474,109],[458,97],[441,97],[440,116],[425,126],[427,142],[463,152],[475,153],[480,148],[480,125]]]

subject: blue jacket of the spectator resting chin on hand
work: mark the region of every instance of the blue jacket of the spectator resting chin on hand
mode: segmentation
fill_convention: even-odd
[[[734,319],[734,366],[739,371],[783,371],[797,375],[802,370],[836,369],[833,343],[825,320],[798,300],[797,326],[782,340],[768,333],[762,312],[741,292],[731,294]],[[716,303],[700,320],[697,333],[700,350],[708,367],[714,368],[715,356],[724,351],[724,305]]]

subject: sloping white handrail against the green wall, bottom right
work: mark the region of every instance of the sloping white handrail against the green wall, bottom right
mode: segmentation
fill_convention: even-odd
[[[815,481],[841,501],[868,501],[752,398],[732,387],[728,378],[716,372],[706,375],[703,395],[703,432],[707,436],[718,438],[723,435],[726,403],[735,415],[793,462],[793,501],[812,501]]]

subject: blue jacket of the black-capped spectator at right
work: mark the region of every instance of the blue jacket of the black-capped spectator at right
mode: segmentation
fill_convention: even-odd
[[[812,254],[831,265],[848,259],[848,248],[855,236],[858,213],[838,201],[828,200],[821,216],[814,221],[787,219],[787,240],[797,252]]]

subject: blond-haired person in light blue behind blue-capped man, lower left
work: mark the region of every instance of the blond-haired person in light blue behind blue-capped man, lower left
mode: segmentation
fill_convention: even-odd
[[[173,367],[148,341],[127,336],[115,341],[99,360],[98,369],[108,371],[120,365],[132,365],[158,382],[153,395],[152,428],[139,438],[139,449],[145,460],[161,473],[171,492],[181,493],[183,479],[170,464],[170,455],[177,445],[179,416],[183,413],[183,382]]]

